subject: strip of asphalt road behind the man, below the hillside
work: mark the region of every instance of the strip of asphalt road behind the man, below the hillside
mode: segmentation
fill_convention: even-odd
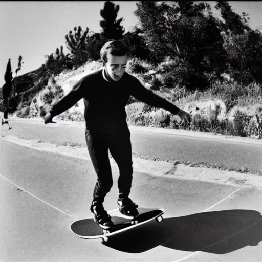
[[[43,124],[35,120],[11,120],[9,134],[46,142],[75,142],[85,146],[84,124],[59,122]],[[262,141],[255,139],[222,139],[201,132],[180,132],[160,128],[129,126],[133,152],[160,159],[208,162],[225,167],[262,171]]]

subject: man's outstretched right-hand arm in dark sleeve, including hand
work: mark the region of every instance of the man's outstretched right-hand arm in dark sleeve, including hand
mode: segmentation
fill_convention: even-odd
[[[164,110],[169,111],[173,115],[178,115],[182,122],[185,124],[190,124],[192,121],[192,117],[189,113],[181,110],[176,105],[170,103],[166,99],[156,95],[152,91],[146,89],[138,79],[136,79],[136,83],[132,86],[131,95],[138,99],[141,102],[144,102],[148,105],[163,108]]]

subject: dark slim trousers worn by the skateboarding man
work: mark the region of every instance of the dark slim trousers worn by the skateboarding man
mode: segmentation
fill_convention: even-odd
[[[128,127],[124,126],[113,134],[85,130],[85,140],[97,173],[94,201],[103,203],[106,194],[113,186],[108,149],[119,168],[119,198],[128,197],[133,179],[132,148]]]

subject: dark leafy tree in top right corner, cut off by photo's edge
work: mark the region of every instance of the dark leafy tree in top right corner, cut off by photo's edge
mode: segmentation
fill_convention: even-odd
[[[227,51],[227,73],[241,86],[253,81],[261,83],[261,33],[248,26],[248,14],[234,13],[226,1],[217,2],[215,8],[220,10],[225,21],[220,26]]]

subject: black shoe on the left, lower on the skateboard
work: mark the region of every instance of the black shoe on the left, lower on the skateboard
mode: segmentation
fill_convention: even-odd
[[[111,216],[104,210],[102,203],[93,202],[90,210],[94,214],[94,220],[101,228],[108,229],[114,226]]]

